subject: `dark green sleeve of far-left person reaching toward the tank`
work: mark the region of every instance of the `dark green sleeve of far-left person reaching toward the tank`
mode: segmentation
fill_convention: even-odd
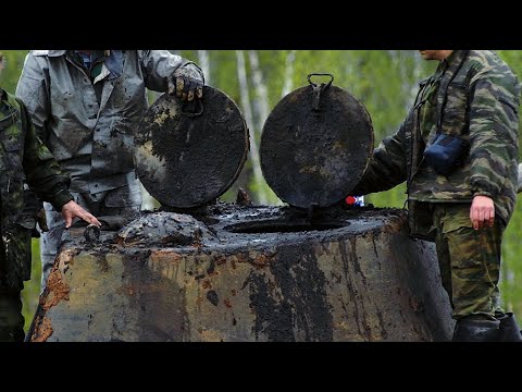
[[[62,206],[73,199],[67,191],[71,180],[61,171],[58,161],[36,134],[25,106],[20,100],[18,103],[25,131],[23,166],[27,184],[39,198],[51,203],[57,211],[61,211]]]

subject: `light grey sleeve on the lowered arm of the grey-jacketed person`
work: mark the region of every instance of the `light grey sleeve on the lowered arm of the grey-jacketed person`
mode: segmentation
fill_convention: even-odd
[[[35,57],[30,52],[25,58],[22,75],[16,86],[16,96],[27,107],[33,124],[42,140],[47,140],[46,124],[50,115],[49,94],[46,83],[46,69],[41,62],[45,57]]]

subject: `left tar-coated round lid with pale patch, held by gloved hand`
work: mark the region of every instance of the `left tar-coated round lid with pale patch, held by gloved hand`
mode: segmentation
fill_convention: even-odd
[[[232,186],[247,159],[248,144],[245,120],[223,91],[204,86],[198,105],[164,94],[138,125],[136,171],[162,205],[197,207]]]

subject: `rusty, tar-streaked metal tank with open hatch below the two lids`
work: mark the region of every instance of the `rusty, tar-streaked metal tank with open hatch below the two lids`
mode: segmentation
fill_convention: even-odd
[[[450,338],[434,248],[402,211],[322,213],[219,203],[199,220],[146,213],[96,244],[70,230],[30,340]]]

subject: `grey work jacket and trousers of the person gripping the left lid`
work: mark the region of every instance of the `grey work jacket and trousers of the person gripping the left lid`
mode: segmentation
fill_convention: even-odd
[[[146,88],[165,93],[176,72],[199,71],[166,50],[103,52],[87,70],[74,50],[34,50],[16,96],[71,175],[75,201],[97,216],[128,216],[141,205],[133,127],[148,108]],[[42,290],[63,233],[59,211],[45,207],[50,230],[40,240]]]

